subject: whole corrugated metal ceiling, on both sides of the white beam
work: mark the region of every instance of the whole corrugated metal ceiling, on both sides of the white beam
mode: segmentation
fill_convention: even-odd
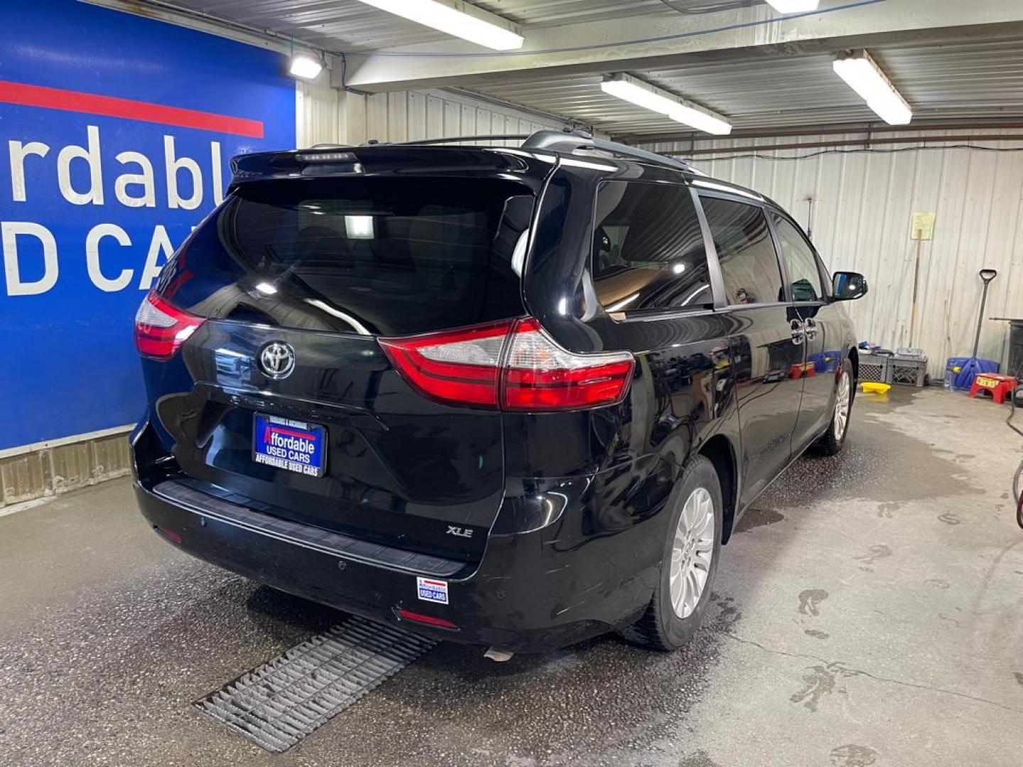
[[[699,13],[760,0],[474,0],[530,28],[678,11]],[[175,0],[195,11],[295,37],[326,50],[368,50],[442,41],[447,36],[358,0]],[[672,10],[669,7],[675,8]],[[624,19],[639,17],[634,24]],[[918,119],[1023,117],[1023,40],[872,47]],[[680,61],[685,61],[680,58]],[[609,72],[614,71],[609,63]],[[829,52],[681,63],[631,72],[725,115],[737,130],[876,122],[877,117],[834,75]],[[535,80],[508,72],[465,79],[459,87],[594,126],[616,135],[680,133],[667,118],[606,96],[599,74]]]

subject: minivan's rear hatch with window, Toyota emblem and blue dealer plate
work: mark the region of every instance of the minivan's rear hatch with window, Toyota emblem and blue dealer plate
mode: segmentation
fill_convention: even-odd
[[[236,186],[149,298],[205,319],[144,363],[183,475],[296,522],[480,557],[501,415],[416,393],[377,339],[522,315],[535,191],[508,173]]]

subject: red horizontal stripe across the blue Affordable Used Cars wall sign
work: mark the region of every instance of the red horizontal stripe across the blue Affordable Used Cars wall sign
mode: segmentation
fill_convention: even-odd
[[[212,111],[182,109],[178,106],[99,96],[95,93],[68,91],[62,88],[44,88],[41,85],[25,85],[0,80],[0,101],[21,106],[42,106],[46,109],[81,111],[107,118],[124,118],[143,123],[160,123],[179,128],[197,128],[201,131],[263,138],[263,123],[259,120],[232,118],[227,115],[215,115]]]

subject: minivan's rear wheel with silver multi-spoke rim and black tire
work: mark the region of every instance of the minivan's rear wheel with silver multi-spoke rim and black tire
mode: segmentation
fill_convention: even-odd
[[[708,511],[707,501],[710,502],[709,511],[713,514],[712,523],[705,516]],[[703,622],[707,604],[710,602],[711,590],[717,574],[717,563],[720,558],[723,517],[721,483],[718,481],[717,471],[714,470],[714,464],[702,455],[694,457],[676,483],[668,508],[671,509],[671,512],[665,533],[661,575],[657,588],[654,590],[654,596],[642,618],[621,631],[622,636],[630,642],[665,652],[678,649],[693,638]],[[688,525],[679,524],[683,512],[686,514],[686,520],[690,521]],[[702,516],[703,518],[701,518]],[[694,535],[685,535],[686,527],[692,530]],[[683,537],[679,539],[680,545],[676,551],[675,542],[678,532],[681,532]],[[711,540],[708,541],[709,538]],[[688,543],[692,548],[687,548],[685,545],[690,541],[695,541],[695,544]],[[691,553],[686,554],[686,551]],[[673,554],[680,557],[674,559],[678,562],[678,568],[672,567]],[[700,565],[706,562],[708,554],[709,563],[701,568]],[[687,567],[688,561],[693,562],[692,569]],[[683,590],[681,598],[678,598],[680,585],[684,584],[692,588],[699,581],[698,574],[690,575],[694,570],[706,573],[702,587],[697,589],[695,604],[692,602],[695,592]],[[672,599],[671,576],[673,571],[678,574],[676,576],[675,600]],[[688,580],[688,578],[694,580]],[[676,610],[676,604],[679,605],[681,613]]]

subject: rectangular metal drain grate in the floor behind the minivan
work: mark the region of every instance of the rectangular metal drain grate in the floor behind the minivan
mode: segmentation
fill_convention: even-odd
[[[435,644],[353,616],[195,706],[267,751],[287,751]]]

